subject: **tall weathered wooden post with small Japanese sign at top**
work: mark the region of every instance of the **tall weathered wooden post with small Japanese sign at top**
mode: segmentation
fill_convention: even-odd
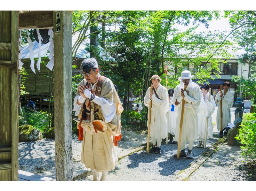
[[[55,17],[55,11],[53,11]],[[55,20],[55,19],[54,19]],[[72,12],[60,11],[54,25],[54,124],[56,180],[72,180]]]

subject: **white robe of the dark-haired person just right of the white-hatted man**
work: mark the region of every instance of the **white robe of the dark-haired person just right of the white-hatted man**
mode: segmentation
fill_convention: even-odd
[[[210,95],[209,102],[209,92],[206,95],[204,100],[204,94],[201,94],[201,103],[200,103],[200,111],[198,112],[198,136],[200,139],[205,138],[205,127],[208,119],[207,126],[207,137],[206,139],[212,138],[213,126],[212,126],[212,113],[215,110],[216,104],[212,95]]]

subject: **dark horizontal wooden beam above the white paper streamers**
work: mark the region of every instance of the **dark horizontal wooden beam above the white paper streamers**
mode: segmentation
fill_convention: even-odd
[[[19,14],[19,30],[53,28],[53,11],[31,11]]]

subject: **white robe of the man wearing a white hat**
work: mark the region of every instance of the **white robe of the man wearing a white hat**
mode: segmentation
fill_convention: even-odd
[[[181,88],[184,89],[184,84],[180,83],[174,89],[173,94],[173,103],[180,97]],[[184,114],[183,114],[183,125],[181,132],[181,142],[186,141],[195,141],[198,136],[198,118],[197,113],[199,112],[199,105],[201,102],[201,89],[200,87],[190,80],[188,87],[186,89],[187,96],[183,99],[185,100]],[[174,104],[174,106],[176,106]],[[175,137],[174,141],[179,141],[180,134],[180,118],[181,118],[181,107],[182,102],[180,102],[178,107],[178,116],[176,120],[176,128],[175,128]]]

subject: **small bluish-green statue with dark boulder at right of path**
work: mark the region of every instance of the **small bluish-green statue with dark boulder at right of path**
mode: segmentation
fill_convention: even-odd
[[[229,145],[239,145],[242,144],[236,140],[235,136],[239,133],[239,125],[242,123],[243,120],[243,113],[244,113],[244,103],[242,102],[241,97],[236,98],[236,110],[235,110],[235,121],[234,121],[234,127],[228,131],[228,144]]]

